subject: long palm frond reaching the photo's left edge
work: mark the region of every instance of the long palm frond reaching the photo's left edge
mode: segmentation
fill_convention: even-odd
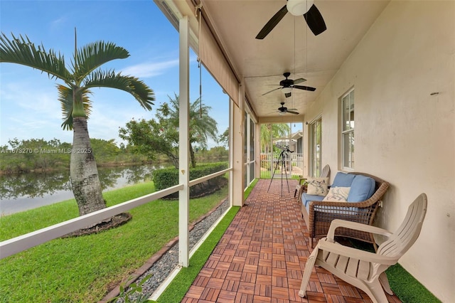
[[[43,44],[35,46],[26,36],[16,38],[11,33],[9,39],[3,32],[0,35],[0,63],[16,63],[30,66],[48,73],[50,78],[59,78],[70,82],[71,74],[65,68],[65,58],[52,50],[46,51]]]

